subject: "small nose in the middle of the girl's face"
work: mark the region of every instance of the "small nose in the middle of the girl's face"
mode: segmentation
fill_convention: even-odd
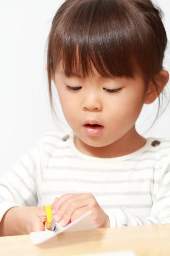
[[[83,102],[84,111],[102,111],[102,102],[96,93],[85,95]]]

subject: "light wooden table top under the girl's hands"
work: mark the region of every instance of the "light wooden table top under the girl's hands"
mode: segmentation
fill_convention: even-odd
[[[35,246],[29,236],[0,237],[0,256],[65,256],[133,250],[137,256],[170,256],[170,224],[62,233]]]

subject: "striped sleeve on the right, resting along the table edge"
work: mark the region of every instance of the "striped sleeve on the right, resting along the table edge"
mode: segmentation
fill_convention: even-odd
[[[111,227],[170,223],[170,164],[160,177],[159,192],[154,198],[150,216],[141,218],[125,209],[110,210],[106,214],[110,219]]]

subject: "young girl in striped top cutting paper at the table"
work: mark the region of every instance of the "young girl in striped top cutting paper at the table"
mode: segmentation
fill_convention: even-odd
[[[48,38],[47,71],[69,134],[47,133],[0,179],[0,234],[65,226],[91,210],[96,228],[170,223],[170,140],[140,136],[144,104],[169,75],[167,36],[150,0],[66,0]]]

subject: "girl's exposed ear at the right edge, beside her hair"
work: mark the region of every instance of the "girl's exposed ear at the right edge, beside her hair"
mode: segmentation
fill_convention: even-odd
[[[144,98],[145,104],[153,103],[156,98],[161,94],[165,85],[169,81],[169,73],[166,70],[161,70],[155,77],[154,80],[157,84],[157,89],[153,81],[150,81],[146,96]]]

